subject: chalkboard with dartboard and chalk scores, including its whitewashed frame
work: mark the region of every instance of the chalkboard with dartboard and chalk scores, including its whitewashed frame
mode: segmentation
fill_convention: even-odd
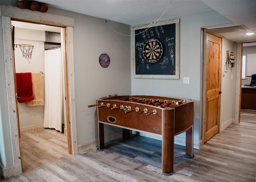
[[[179,78],[179,22],[134,27],[135,78]]]

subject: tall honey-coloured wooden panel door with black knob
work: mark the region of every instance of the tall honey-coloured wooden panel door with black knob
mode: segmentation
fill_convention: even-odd
[[[204,143],[219,132],[222,39],[206,33]]]

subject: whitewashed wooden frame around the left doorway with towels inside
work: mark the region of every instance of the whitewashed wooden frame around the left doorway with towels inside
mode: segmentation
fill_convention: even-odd
[[[14,159],[14,167],[11,170],[10,176],[22,174],[20,143],[18,136],[18,120],[16,114],[16,96],[14,88],[14,65],[12,53],[12,27],[11,19],[16,19],[24,22],[36,22],[40,24],[49,24],[55,26],[66,27],[66,69],[67,79],[66,89],[68,90],[67,115],[70,121],[67,122],[68,142],[70,142],[69,152],[77,154],[77,137],[76,137],[76,110],[75,110],[75,92],[74,92],[74,54],[73,54],[73,27],[74,18],[54,15],[49,13],[41,13],[27,9],[20,9],[14,6],[0,5],[0,12],[3,20],[3,34],[4,34],[4,59],[7,82],[7,99],[8,112],[10,120],[10,134],[12,137],[12,152]]]

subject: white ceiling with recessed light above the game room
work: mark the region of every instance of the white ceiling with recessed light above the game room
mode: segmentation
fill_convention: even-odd
[[[1,3],[4,0],[1,0]],[[155,22],[186,14],[215,10],[231,23],[206,27],[243,25],[246,30],[219,33],[234,42],[256,41],[256,0],[40,0],[59,8],[128,25]],[[158,22],[159,22],[158,21]],[[254,32],[254,35],[245,35]]]

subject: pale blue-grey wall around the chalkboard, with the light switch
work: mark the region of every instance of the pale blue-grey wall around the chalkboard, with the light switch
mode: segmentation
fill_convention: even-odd
[[[202,124],[200,123],[202,90],[201,28],[229,23],[229,21],[214,10],[171,19],[176,18],[180,18],[180,79],[132,78],[132,95],[170,96],[194,100],[194,140],[199,141],[202,135]],[[183,84],[183,77],[189,77],[190,84]],[[150,85],[154,85],[154,87],[148,89]],[[185,133],[178,136],[185,138]]]

